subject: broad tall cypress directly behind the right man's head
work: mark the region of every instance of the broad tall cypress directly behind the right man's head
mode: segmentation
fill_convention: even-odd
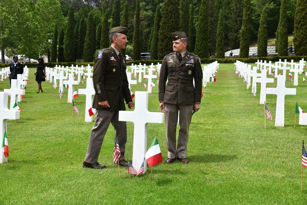
[[[164,0],[161,8],[162,19],[159,30],[158,58],[173,52],[172,33],[179,30],[178,4],[173,0]]]

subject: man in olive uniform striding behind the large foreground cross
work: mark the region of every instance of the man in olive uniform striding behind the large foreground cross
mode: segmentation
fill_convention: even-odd
[[[84,168],[103,169],[106,166],[97,162],[103,138],[109,124],[116,129],[121,157],[119,165],[128,166],[125,160],[127,127],[125,121],[119,121],[119,111],[133,108],[126,75],[126,59],[120,50],[126,48],[128,30],[115,27],[109,31],[111,47],[100,50],[95,57],[93,85],[95,89],[92,107],[96,109],[95,125],[92,128],[87,153],[83,162]]]

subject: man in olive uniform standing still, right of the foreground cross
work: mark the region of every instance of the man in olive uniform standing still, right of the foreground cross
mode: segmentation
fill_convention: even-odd
[[[186,152],[189,125],[192,112],[196,112],[200,107],[203,73],[199,57],[186,50],[188,38],[185,32],[176,31],[172,37],[174,53],[164,57],[159,77],[159,102],[161,109],[165,109],[168,151],[168,159],[165,162],[171,164],[178,158],[188,164]],[[178,111],[180,130],[176,149]]]

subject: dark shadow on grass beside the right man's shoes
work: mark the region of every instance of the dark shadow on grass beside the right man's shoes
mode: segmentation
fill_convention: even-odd
[[[204,154],[202,156],[192,155],[188,157],[189,162],[198,162],[198,163],[216,163],[216,162],[225,162],[237,159],[235,155],[216,155],[216,154]]]

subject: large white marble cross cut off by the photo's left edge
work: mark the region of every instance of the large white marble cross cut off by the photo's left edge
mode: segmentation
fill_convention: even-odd
[[[0,92],[0,142],[2,143],[2,137],[4,135],[4,126],[7,128],[7,120],[17,120],[19,119],[19,110],[9,110],[7,108],[8,93]],[[6,163],[6,157],[4,156],[2,150],[0,150],[0,164]]]

